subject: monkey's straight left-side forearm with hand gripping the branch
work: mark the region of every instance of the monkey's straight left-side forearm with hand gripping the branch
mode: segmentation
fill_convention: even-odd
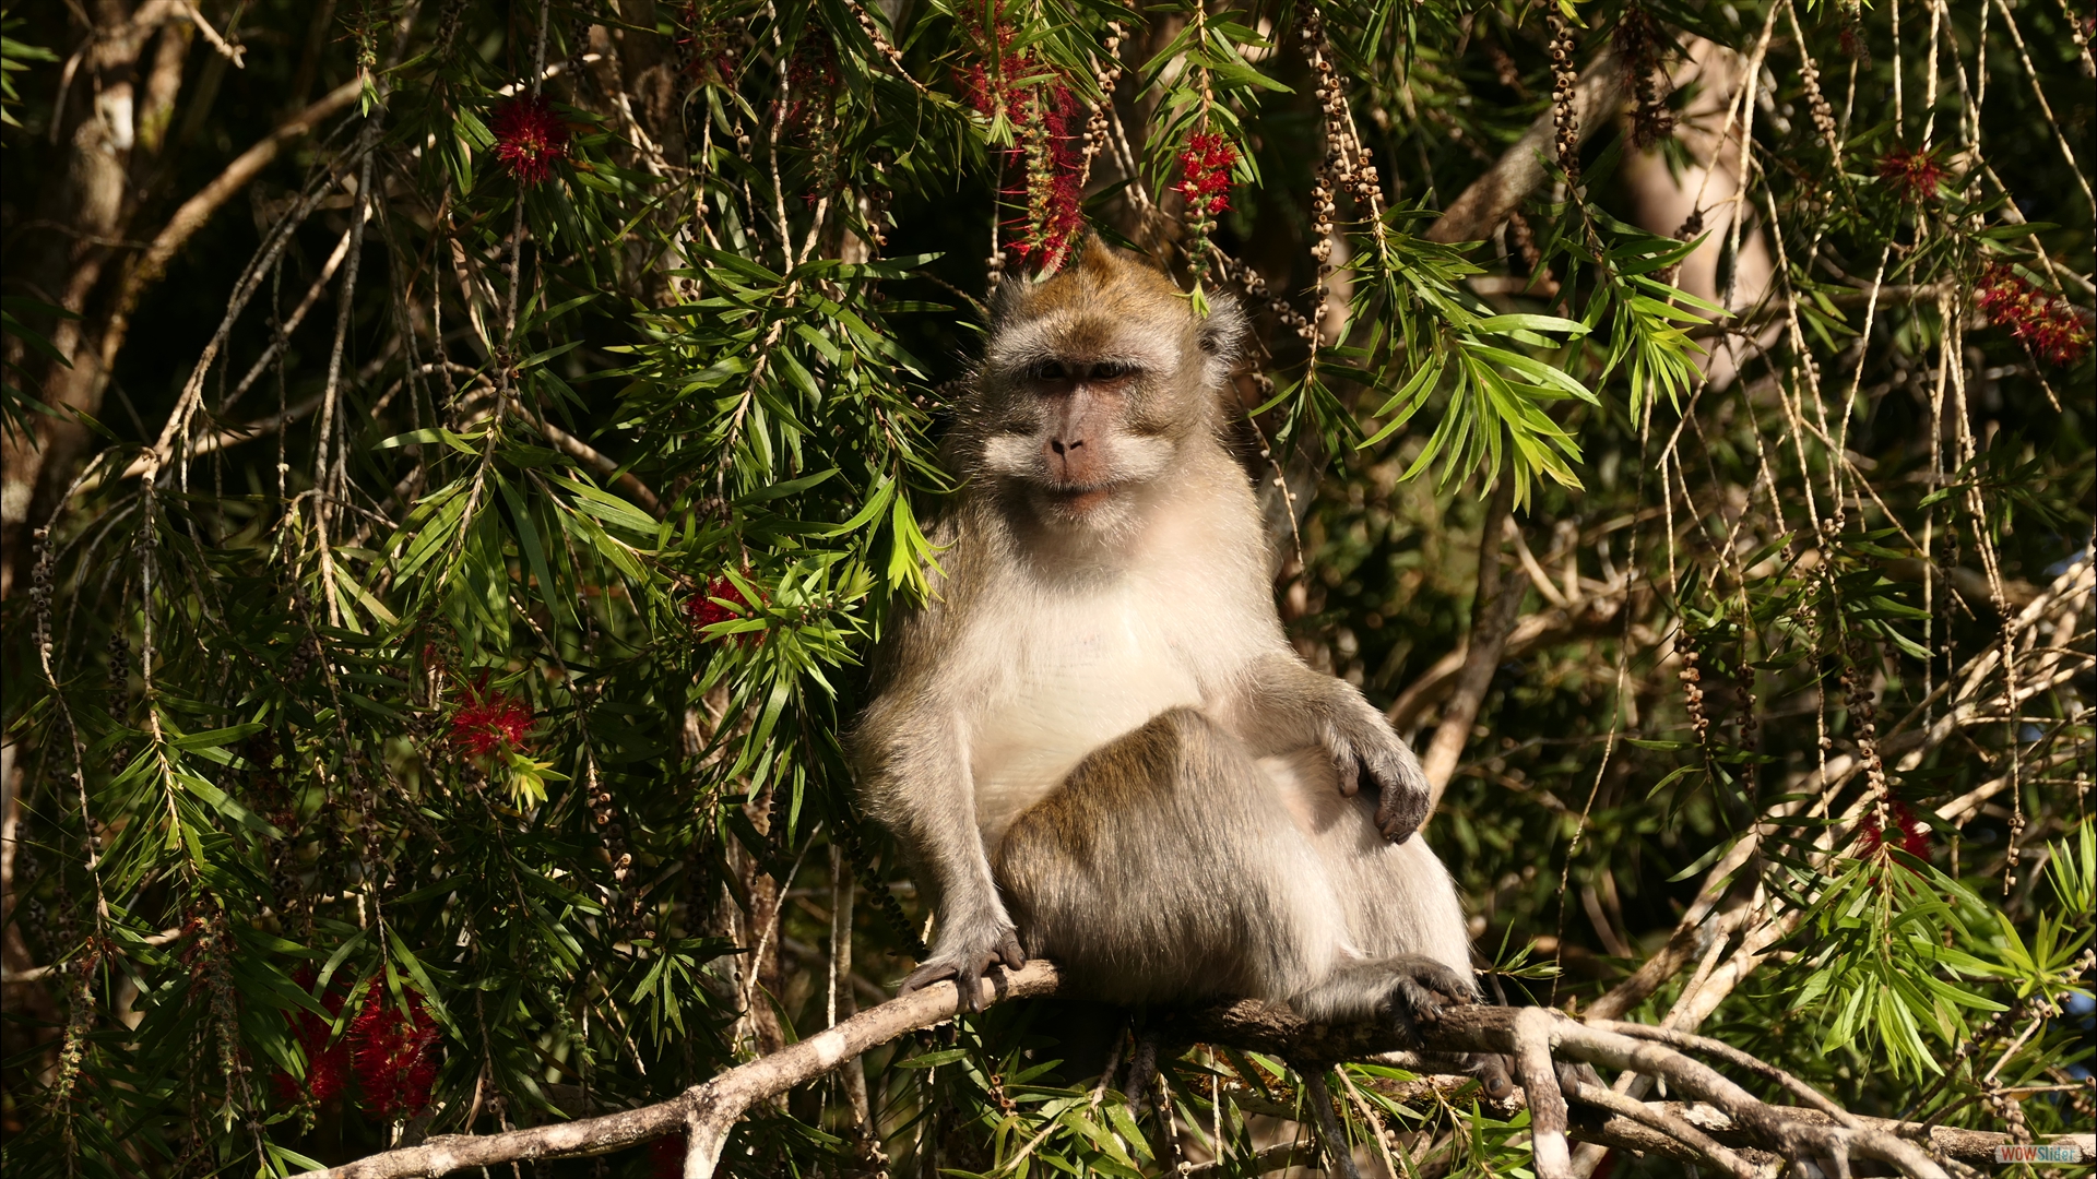
[[[868,711],[858,741],[868,810],[904,843],[939,915],[931,957],[904,978],[902,992],[954,980],[965,996],[975,996],[986,969],[996,963],[1021,967],[1028,957],[998,898],[975,824],[960,722],[952,711],[923,703],[893,705],[910,699],[927,696],[883,696]]]

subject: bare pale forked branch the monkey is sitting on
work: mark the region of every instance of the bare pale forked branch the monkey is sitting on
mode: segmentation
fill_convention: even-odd
[[[1057,984],[1055,965],[1034,961],[1019,971],[986,978],[981,1001],[988,1005],[1053,994]],[[686,1175],[707,1179],[719,1166],[728,1133],[759,1101],[816,1080],[847,1059],[902,1034],[952,1020],[956,1007],[958,990],[942,982],[881,1003],[778,1053],[732,1068],[669,1101],[499,1135],[445,1135],[329,1171],[308,1171],[298,1179],[434,1177],[470,1166],[608,1154],[677,1133],[686,1135],[688,1141]],[[1623,1034],[1613,1024],[1581,1024],[1548,1007],[1455,1007],[1447,1009],[1441,1020],[1424,1024],[1422,1036],[1430,1053],[1508,1053],[1516,1057],[1531,1108],[1531,1124],[1539,1137],[1537,1175],[1571,1173],[1566,1166],[1569,1133],[1583,1141],[1663,1150],[1678,1158],[1707,1160],[1730,1175],[1749,1175],[1757,1166],[1755,1160],[1741,1154],[1743,1148],[1768,1150],[1785,1158],[1829,1158],[1843,1166],[1856,1154],[1889,1162],[1904,1175],[1944,1175],[1942,1164],[1919,1145],[1925,1137],[1919,1124],[1852,1118],[1839,1108],[1822,1112],[1768,1106],[1713,1068],[1655,1043],[1655,1030],[1629,1028],[1634,1034]],[[1401,1047],[1401,1032],[1390,1022],[1309,1024],[1288,1007],[1254,1001],[1179,1011],[1168,1015],[1160,1030],[1166,1043],[1225,1043],[1302,1062],[1300,1072],[1313,1099],[1323,1093],[1321,1076],[1327,1066],[1378,1057]],[[1713,1051],[1709,1041],[1694,1036],[1680,1043],[1696,1051]],[[1724,1049],[1724,1045],[1720,1047]],[[1747,1053],[1734,1053],[1736,1049],[1724,1049],[1715,1055],[1764,1076],[1782,1076],[1780,1070]],[[1592,1085],[1573,1082],[1571,1093],[1577,1101],[1606,1114],[1600,1122],[1573,1122],[1564,1091],[1560,1091],[1560,1062],[1587,1062],[1659,1076],[1673,1093],[1690,1097],[1696,1106],[1640,1103],[1636,1097],[1606,1091],[1590,1093]],[[1313,1085],[1313,1078],[1319,1078],[1319,1085]],[[1441,1089],[1447,1085],[1436,1091]],[[1325,1101],[1325,1120],[1332,1120],[1329,1099]],[[1325,1127],[1325,1137],[1332,1143],[1329,1156],[1336,1162],[1344,1158],[1344,1141],[1336,1124]],[[2078,1145],[2087,1154],[2097,1152],[2097,1143],[2087,1141],[2089,1137],[2070,1135],[2055,1141]],[[1992,1158],[1992,1150],[2009,1141],[2009,1135],[1938,1127],[1927,1133],[1927,1141],[1931,1150],[1952,1158],[1982,1160]],[[1288,1160],[1300,1160],[1298,1152],[1302,1145],[1292,1143],[1285,1152],[1269,1150],[1250,1162],[1260,1171],[1279,1169],[1290,1164]],[[1244,1162],[1248,1160],[1239,1160],[1237,1166]]]

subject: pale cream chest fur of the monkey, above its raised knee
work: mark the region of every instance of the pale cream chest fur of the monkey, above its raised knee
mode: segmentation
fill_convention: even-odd
[[[1244,613],[1212,587],[1128,579],[1028,594],[1017,631],[965,636],[963,732],[986,848],[1086,753],[1172,707],[1202,707],[1256,655]]]

